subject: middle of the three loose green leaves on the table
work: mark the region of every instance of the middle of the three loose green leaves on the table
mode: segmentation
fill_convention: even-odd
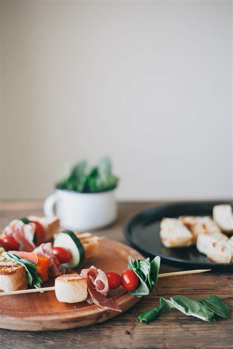
[[[204,321],[212,321],[214,313],[205,307],[200,301],[190,299],[183,295],[174,295],[170,299],[161,298],[160,305],[175,308],[188,316],[194,316]]]

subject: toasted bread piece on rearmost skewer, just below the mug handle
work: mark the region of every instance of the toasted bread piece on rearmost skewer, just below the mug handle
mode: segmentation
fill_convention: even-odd
[[[58,217],[37,217],[30,215],[29,220],[37,221],[43,226],[44,238],[43,242],[46,242],[53,238],[55,234],[58,234],[60,230],[60,219]]]

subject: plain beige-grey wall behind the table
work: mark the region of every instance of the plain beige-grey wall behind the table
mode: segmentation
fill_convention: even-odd
[[[118,198],[229,198],[232,1],[1,6],[1,198],[109,154]]]

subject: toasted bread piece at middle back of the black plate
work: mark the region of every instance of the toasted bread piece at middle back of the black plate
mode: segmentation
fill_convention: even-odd
[[[210,216],[181,215],[179,216],[179,220],[191,231],[195,242],[199,234],[221,233],[221,230]]]

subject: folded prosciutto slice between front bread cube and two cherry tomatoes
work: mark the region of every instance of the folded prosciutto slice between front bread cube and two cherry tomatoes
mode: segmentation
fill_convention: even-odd
[[[106,298],[106,291],[109,291],[107,275],[101,270],[91,266],[89,269],[83,269],[80,274],[87,279],[88,297],[87,302],[94,303],[101,308],[108,308],[121,312],[117,303],[112,298]],[[107,292],[108,292],[107,291]]]

